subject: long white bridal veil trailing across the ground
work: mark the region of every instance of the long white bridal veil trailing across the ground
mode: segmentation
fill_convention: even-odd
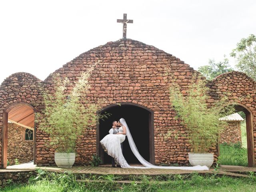
[[[133,152],[133,154],[136,156],[136,158],[139,160],[139,162],[144,165],[146,168],[158,168],[158,169],[182,169],[182,170],[209,170],[207,166],[193,166],[193,167],[175,167],[175,166],[155,166],[151,164],[150,162],[147,162],[139,153],[134,140],[132,139],[132,135],[130,133],[130,130],[128,128],[128,125],[126,124],[124,118],[120,119],[120,123],[126,127],[126,135],[128,138],[128,142],[130,145],[130,148]],[[130,166],[129,166],[130,167]],[[132,168],[140,168],[140,167],[132,167]]]

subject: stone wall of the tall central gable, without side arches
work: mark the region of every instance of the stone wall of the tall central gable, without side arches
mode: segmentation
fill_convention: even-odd
[[[175,112],[169,101],[170,77],[164,68],[170,68],[182,90],[186,90],[188,83],[192,82],[196,71],[179,58],[154,46],[126,39],[108,42],[80,54],[55,73],[67,76],[74,82],[82,71],[98,60],[100,63],[96,65],[90,78],[91,87],[87,92],[87,99],[90,102],[106,99],[102,107],[118,102],[130,102],[154,111],[155,163],[188,165],[188,152],[191,147],[187,138],[170,138],[166,142],[162,136],[170,128],[186,135],[185,128],[174,117]],[[44,82],[49,90],[54,90],[51,76]],[[89,164],[92,154],[96,154],[96,151],[95,126],[79,139],[76,164]],[[46,158],[45,155],[40,154],[38,163],[48,163],[49,157]]]

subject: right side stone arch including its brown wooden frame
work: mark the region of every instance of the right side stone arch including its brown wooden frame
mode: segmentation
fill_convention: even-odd
[[[246,114],[246,132],[248,145],[248,166],[255,166],[256,143],[256,82],[242,72],[232,71],[220,74],[207,86],[213,100],[226,96],[227,105],[234,104],[236,112]],[[219,151],[218,151],[219,152]]]

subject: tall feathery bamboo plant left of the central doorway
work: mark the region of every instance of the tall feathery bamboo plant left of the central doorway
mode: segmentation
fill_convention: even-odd
[[[36,114],[36,121],[39,129],[50,135],[50,145],[58,152],[75,152],[78,136],[100,118],[96,115],[100,104],[88,102],[85,97],[94,66],[78,77],[72,89],[70,80],[60,74],[53,75],[53,93],[42,88],[45,108],[43,114]]]

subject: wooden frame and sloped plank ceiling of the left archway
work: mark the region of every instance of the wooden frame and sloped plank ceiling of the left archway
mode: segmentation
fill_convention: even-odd
[[[3,111],[2,129],[2,161],[1,167],[6,168],[8,158],[8,123],[24,128],[22,141],[32,142],[33,160],[36,164],[36,124],[34,114],[36,110],[33,106],[25,102],[16,102],[7,106]],[[28,136],[26,136],[28,133]],[[32,140],[30,140],[32,138]],[[21,157],[22,158],[22,157]]]

